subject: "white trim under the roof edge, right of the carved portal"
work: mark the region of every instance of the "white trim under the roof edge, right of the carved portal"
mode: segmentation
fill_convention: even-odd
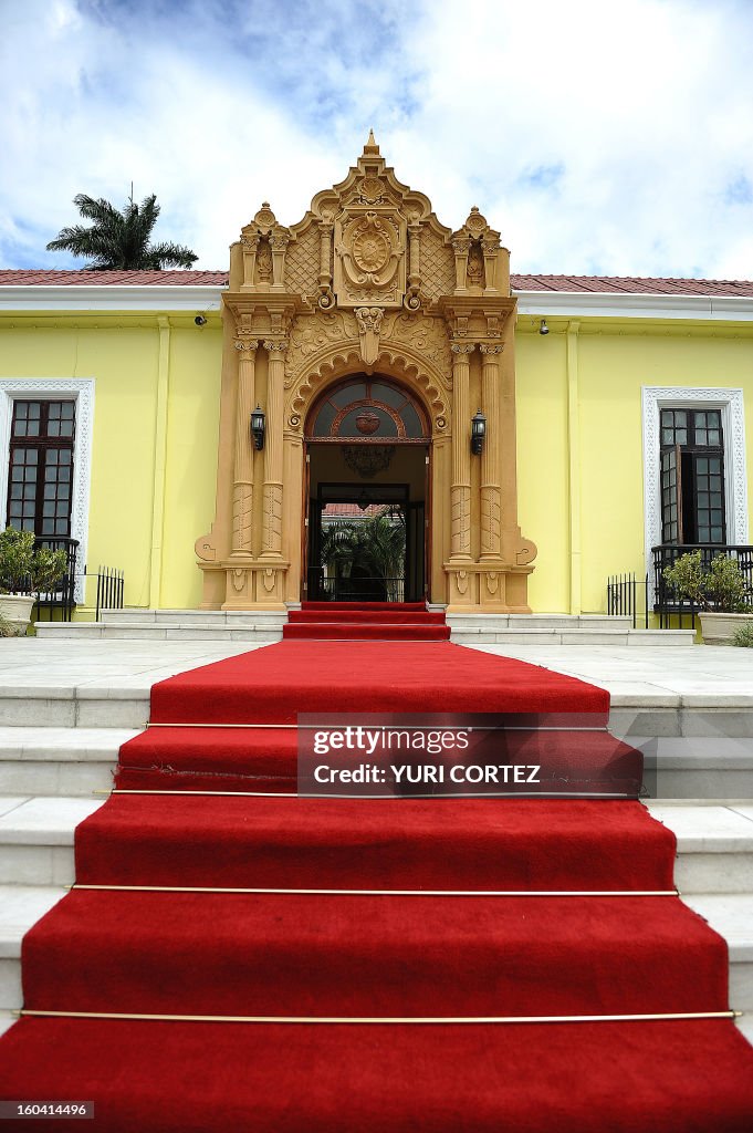
[[[517,296],[517,310],[521,315],[753,322],[753,297],[515,290],[513,295]]]

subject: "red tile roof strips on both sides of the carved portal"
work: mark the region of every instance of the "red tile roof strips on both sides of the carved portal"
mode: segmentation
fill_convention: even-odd
[[[512,275],[514,291],[597,295],[696,295],[753,298],[750,280],[641,279],[633,275]],[[0,287],[226,287],[228,272],[0,270]]]

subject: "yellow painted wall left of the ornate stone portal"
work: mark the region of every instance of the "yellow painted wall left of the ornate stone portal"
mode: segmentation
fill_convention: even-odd
[[[89,571],[100,564],[123,570],[125,600],[130,606],[198,605],[200,572],[194,542],[214,511],[220,324],[199,331],[185,317],[169,323],[174,325],[169,326],[161,548],[160,534],[155,540],[153,531],[161,487],[157,477],[155,491],[156,315],[113,315],[88,323],[65,314],[43,323],[18,316],[0,324],[0,377],[95,381],[87,562]],[[86,598],[87,606],[93,605],[91,579]],[[85,610],[78,613],[87,615]]]

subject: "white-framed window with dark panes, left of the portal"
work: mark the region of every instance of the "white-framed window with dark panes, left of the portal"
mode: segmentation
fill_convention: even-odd
[[[82,571],[88,535],[93,420],[94,378],[0,381],[3,527],[10,519],[15,527],[35,529],[44,537],[69,534],[78,540]],[[61,461],[70,461],[68,474]],[[50,530],[37,530],[45,522]],[[75,598],[84,602],[83,577],[76,580]]]

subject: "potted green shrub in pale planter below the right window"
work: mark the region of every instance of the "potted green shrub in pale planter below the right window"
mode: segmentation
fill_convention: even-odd
[[[728,645],[739,625],[753,622],[753,589],[737,559],[719,553],[704,563],[701,551],[691,551],[664,577],[678,598],[698,607],[707,645]]]

